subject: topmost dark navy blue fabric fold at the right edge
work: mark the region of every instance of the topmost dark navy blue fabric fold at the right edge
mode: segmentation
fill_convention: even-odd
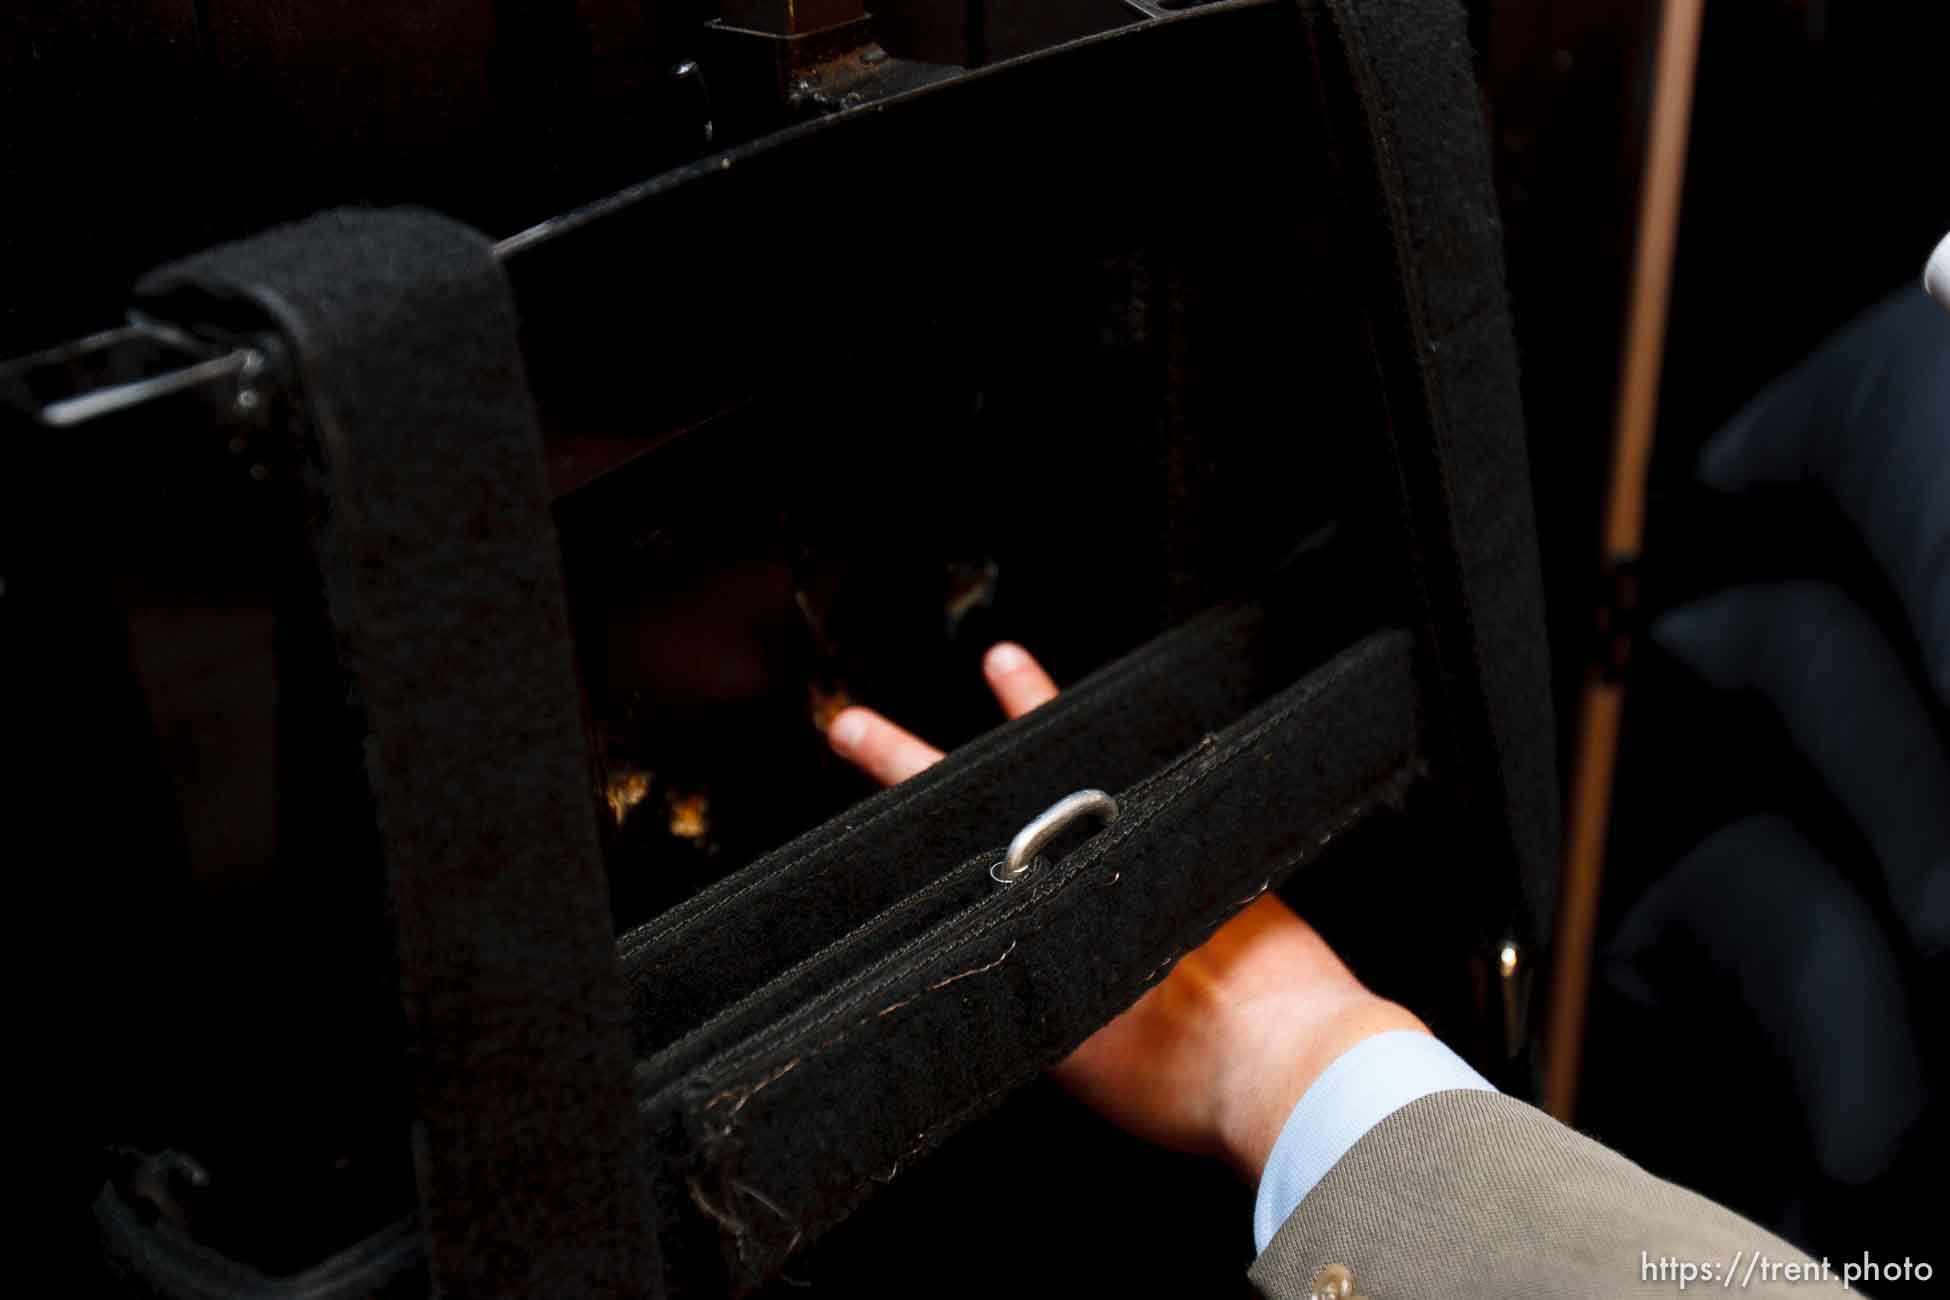
[[[1774,380],[1700,454],[1714,487],[1814,487],[1890,577],[1950,704],[1950,316],[1909,285]]]

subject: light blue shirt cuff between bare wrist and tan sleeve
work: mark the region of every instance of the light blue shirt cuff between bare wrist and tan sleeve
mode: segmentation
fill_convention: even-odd
[[[1336,1056],[1287,1115],[1260,1173],[1260,1195],[1252,1206],[1254,1245],[1266,1249],[1287,1214],[1369,1128],[1410,1101],[1453,1088],[1496,1091],[1441,1039],[1416,1029],[1377,1033]]]

